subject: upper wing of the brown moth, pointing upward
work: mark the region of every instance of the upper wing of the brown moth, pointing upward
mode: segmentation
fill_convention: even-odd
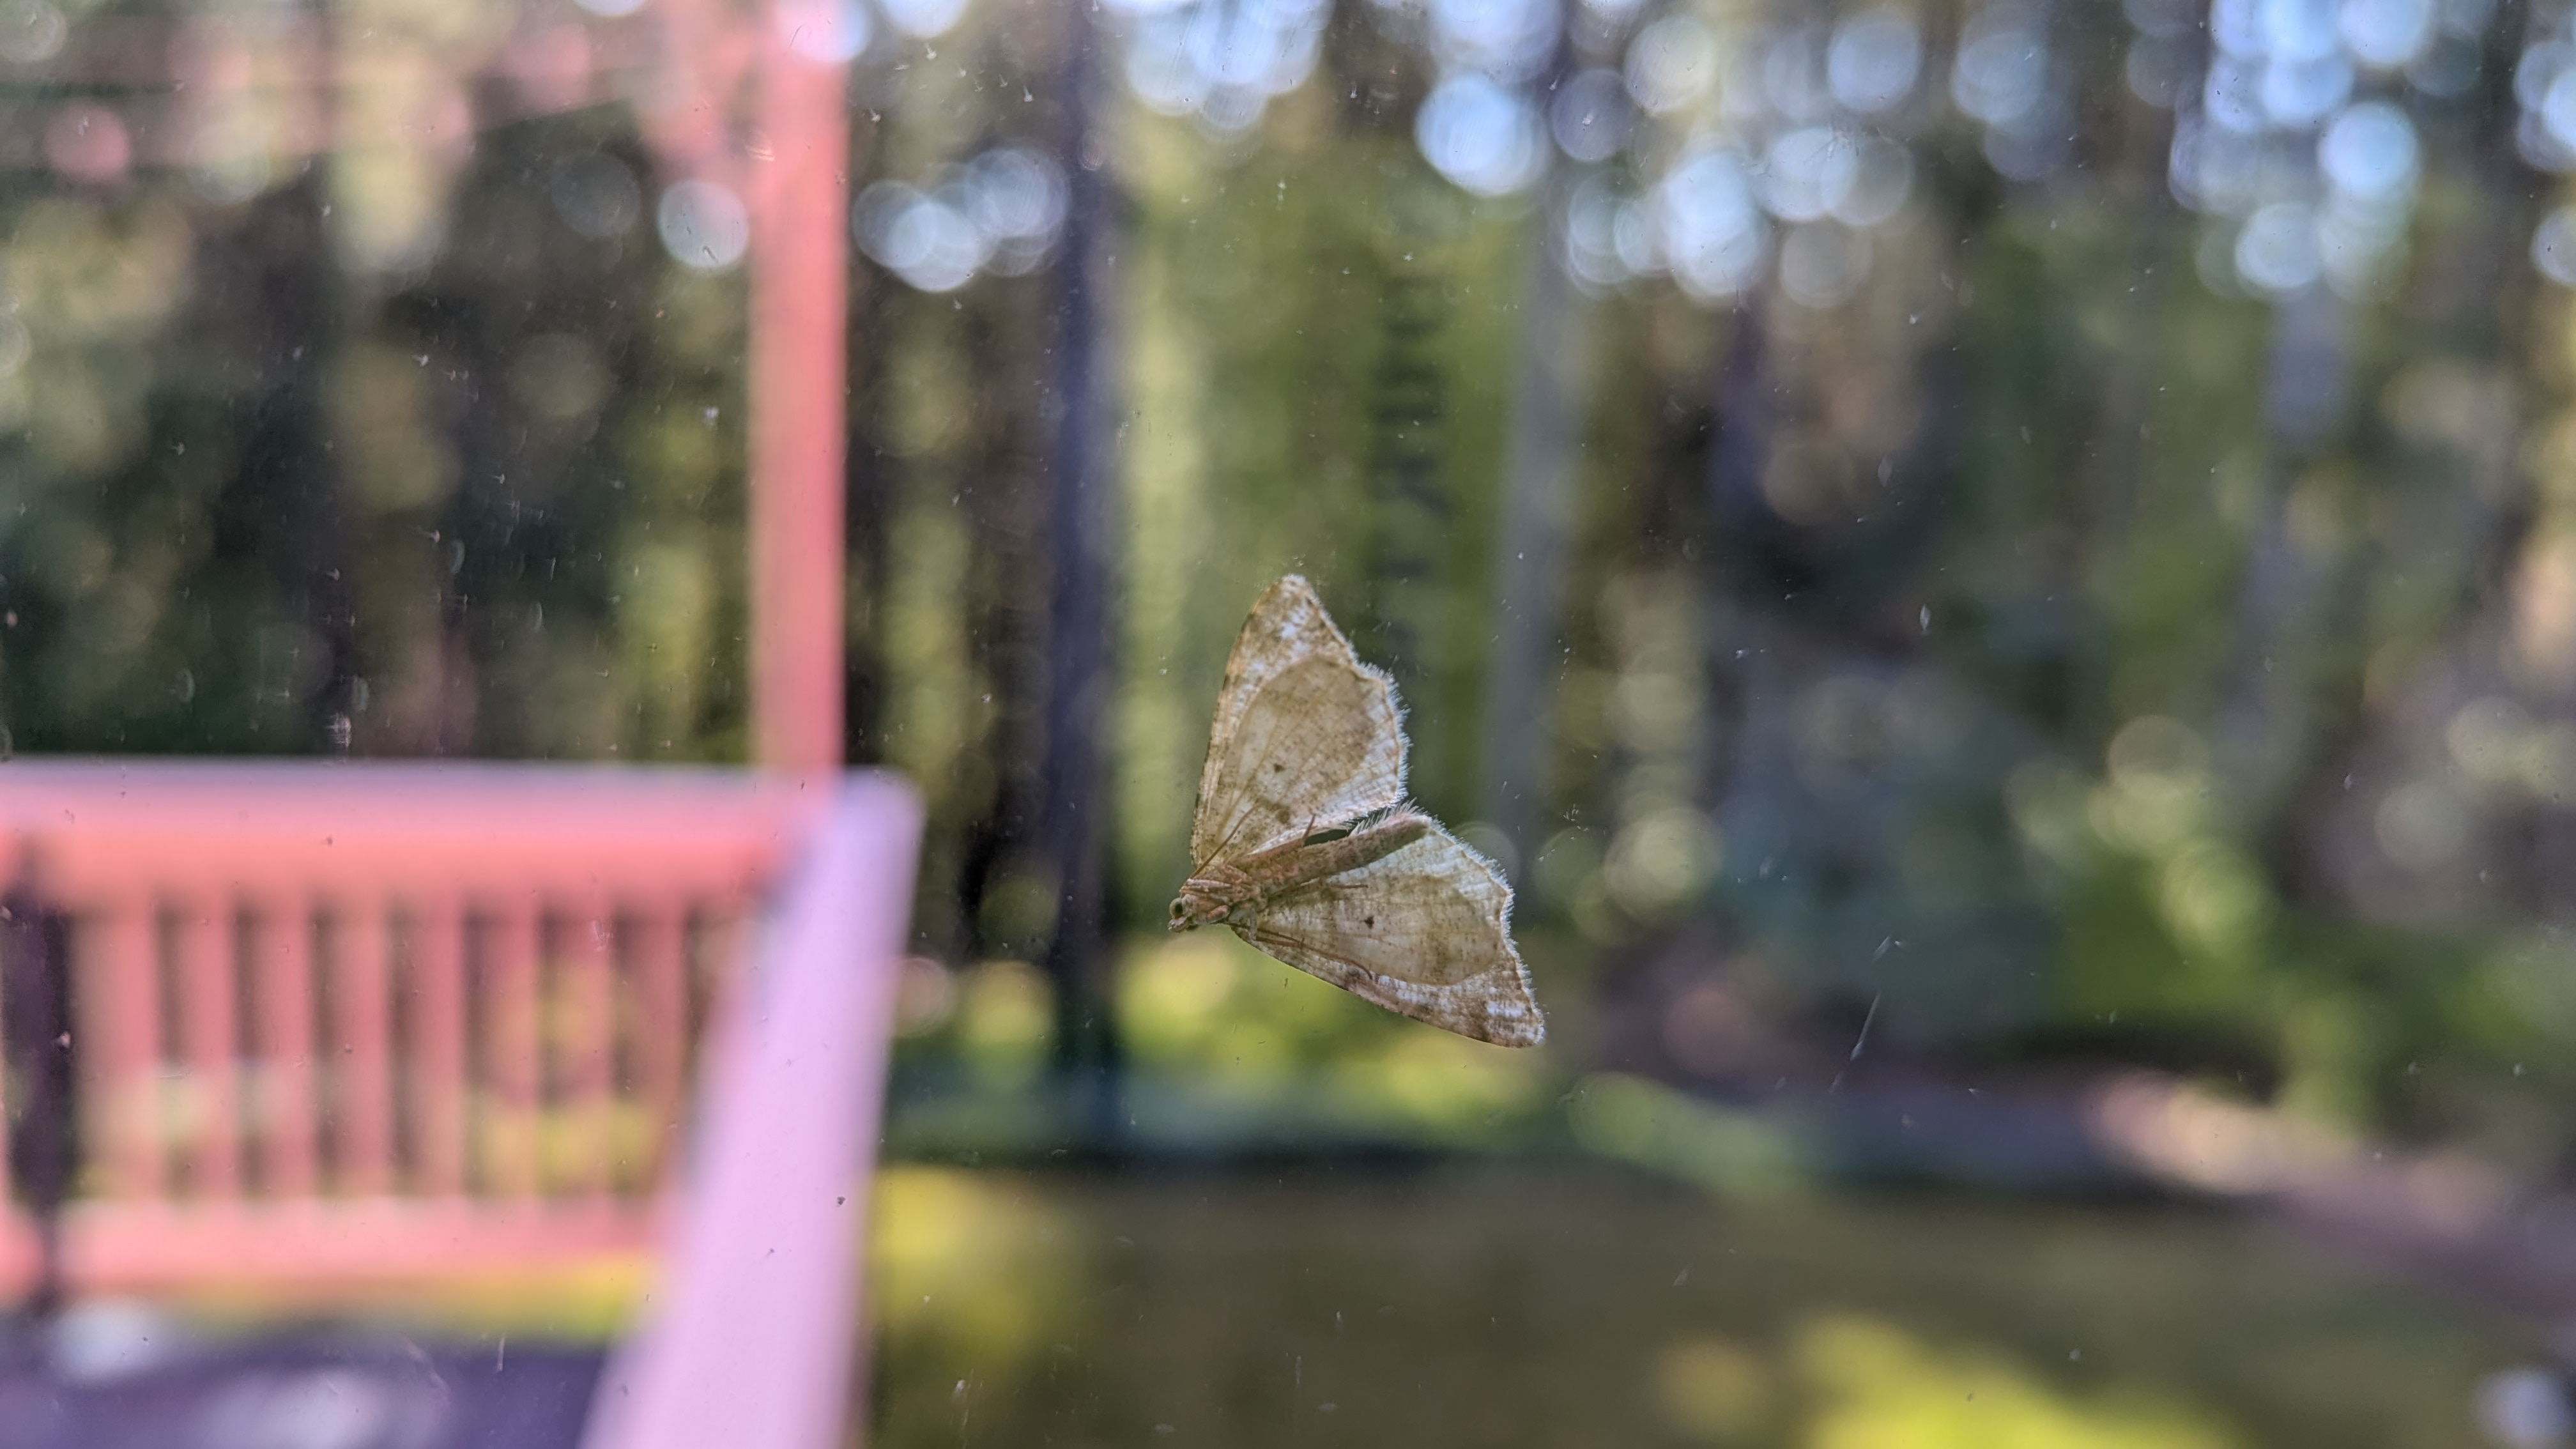
[[[1278,580],[1226,660],[1190,864],[1203,869],[1401,799],[1394,683],[1350,652],[1303,578]]]

